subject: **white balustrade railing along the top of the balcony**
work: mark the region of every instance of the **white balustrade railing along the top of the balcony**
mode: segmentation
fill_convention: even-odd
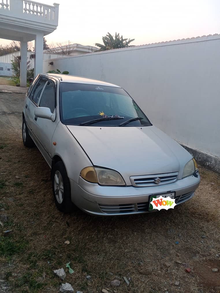
[[[59,4],[53,6],[35,1],[0,0],[0,14],[52,25],[58,25]]]

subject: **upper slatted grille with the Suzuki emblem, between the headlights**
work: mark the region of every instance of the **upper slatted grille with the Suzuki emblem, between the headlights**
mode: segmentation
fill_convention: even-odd
[[[173,183],[177,180],[178,172],[154,174],[145,176],[131,176],[131,184],[137,187],[157,186]]]

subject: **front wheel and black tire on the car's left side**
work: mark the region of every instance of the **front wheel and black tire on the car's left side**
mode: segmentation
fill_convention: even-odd
[[[70,180],[62,161],[54,164],[51,171],[52,189],[55,204],[63,213],[70,213],[75,209],[71,200]]]

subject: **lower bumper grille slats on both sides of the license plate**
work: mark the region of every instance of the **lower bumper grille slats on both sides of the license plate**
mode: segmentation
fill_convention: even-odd
[[[182,202],[189,200],[194,196],[194,191],[183,195],[176,196],[175,203],[179,205]],[[150,195],[149,195],[150,198]],[[137,214],[148,212],[148,202],[138,202],[131,204],[120,204],[120,205],[104,205],[100,204],[99,208],[105,214]]]

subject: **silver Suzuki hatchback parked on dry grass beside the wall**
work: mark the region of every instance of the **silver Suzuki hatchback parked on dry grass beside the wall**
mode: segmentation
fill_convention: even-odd
[[[146,213],[154,211],[152,197],[170,196],[178,205],[199,186],[191,154],[114,84],[39,74],[26,93],[22,134],[50,166],[62,212]]]

